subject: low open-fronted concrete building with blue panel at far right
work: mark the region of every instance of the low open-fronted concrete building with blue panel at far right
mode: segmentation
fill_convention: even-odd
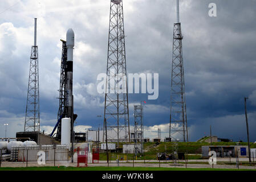
[[[209,152],[215,151],[217,157],[248,157],[248,146],[202,146],[202,157],[208,158]]]

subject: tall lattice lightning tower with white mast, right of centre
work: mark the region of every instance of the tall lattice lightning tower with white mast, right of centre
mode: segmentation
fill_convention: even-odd
[[[179,15],[179,1],[177,0],[177,23],[173,28],[173,55],[172,55],[172,81],[170,94],[170,125],[169,138],[188,141],[188,126],[186,118],[186,99],[184,66],[182,56],[181,23]],[[175,137],[174,137],[175,135]]]

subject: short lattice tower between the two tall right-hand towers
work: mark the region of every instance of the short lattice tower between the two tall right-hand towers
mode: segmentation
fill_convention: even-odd
[[[135,155],[143,153],[144,133],[143,133],[143,105],[134,106],[134,136]]]

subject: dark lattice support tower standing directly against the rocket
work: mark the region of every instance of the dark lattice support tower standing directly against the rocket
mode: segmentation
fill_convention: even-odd
[[[58,111],[58,121],[59,119],[66,117],[66,98],[67,98],[67,46],[66,41],[62,41],[62,60],[60,64],[60,84],[59,84],[59,111]],[[58,123],[58,129],[56,138],[60,139],[62,131],[62,122]]]

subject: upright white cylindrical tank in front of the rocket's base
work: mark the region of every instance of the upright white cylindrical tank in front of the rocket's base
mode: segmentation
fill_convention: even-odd
[[[61,144],[68,146],[70,149],[70,139],[71,139],[71,119],[63,118],[62,119],[62,137]]]

